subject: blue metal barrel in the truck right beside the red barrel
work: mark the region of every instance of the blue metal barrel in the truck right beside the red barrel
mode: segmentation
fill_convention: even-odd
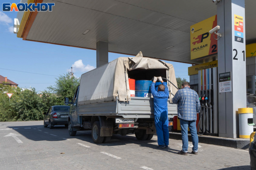
[[[136,97],[148,97],[151,96],[150,85],[152,81],[150,80],[136,80],[135,81],[135,96]]]

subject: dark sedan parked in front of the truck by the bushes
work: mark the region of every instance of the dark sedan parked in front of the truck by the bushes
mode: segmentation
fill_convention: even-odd
[[[48,112],[43,113],[44,116],[44,127],[50,127],[52,129],[54,125],[65,125],[68,126],[68,113],[70,106],[52,106]]]

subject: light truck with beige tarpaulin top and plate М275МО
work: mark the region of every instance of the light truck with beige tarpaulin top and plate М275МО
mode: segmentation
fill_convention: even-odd
[[[68,117],[70,136],[75,136],[76,131],[92,130],[95,143],[109,142],[113,134],[135,133],[138,140],[152,139],[156,133],[153,98],[130,97],[128,77],[151,79],[155,75],[177,83],[171,64],[142,58],[140,53],[133,58],[117,58],[81,76],[71,102],[65,98],[65,104],[71,104]],[[148,68],[148,65],[153,67]],[[177,105],[170,100],[177,90],[173,85],[167,85],[170,91],[168,118],[169,125],[172,125],[170,119],[177,115]]]

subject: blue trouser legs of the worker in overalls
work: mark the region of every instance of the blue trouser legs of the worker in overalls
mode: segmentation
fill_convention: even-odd
[[[155,128],[157,133],[158,145],[169,145],[169,121],[167,113],[156,114]]]

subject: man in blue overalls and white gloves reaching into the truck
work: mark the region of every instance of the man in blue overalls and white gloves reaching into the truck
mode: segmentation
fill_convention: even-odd
[[[155,82],[160,81],[162,84],[158,86],[158,91],[155,90]],[[155,127],[157,133],[157,142],[159,149],[168,148],[169,145],[169,130],[168,130],[168,109],[167,100],[169,97],[169,90],[167,83],[162,80],[162,77],[154,77],[150,86],[151,94],[154,97],[154,116]]]

